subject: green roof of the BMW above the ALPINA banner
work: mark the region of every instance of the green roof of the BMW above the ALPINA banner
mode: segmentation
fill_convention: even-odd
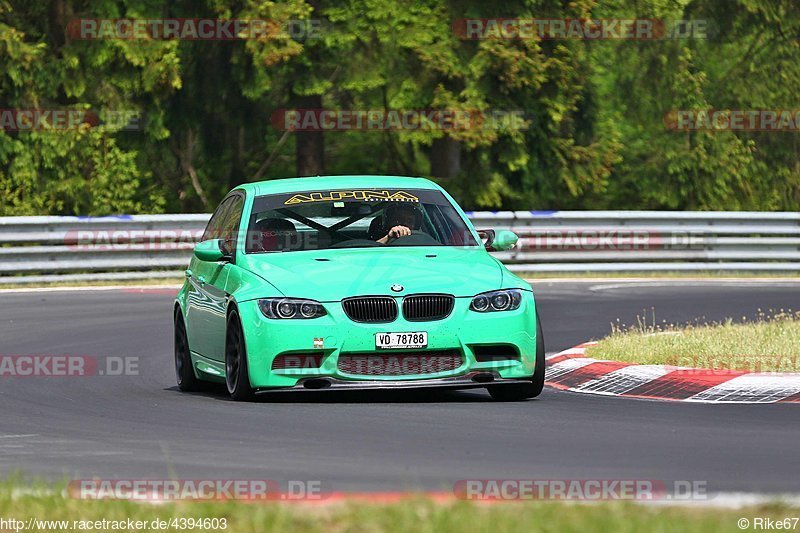
[[[301,191],[318,191],[349,188],[434,189],[441,190],[429,179],[406,176],[309,176],[307,178],[277,178],[245,183],[236,187],[255,196]]]

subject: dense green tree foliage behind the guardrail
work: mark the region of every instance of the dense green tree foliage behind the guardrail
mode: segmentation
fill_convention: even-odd
[[[320,25],[211,42],[67,31],[81,18],[199,17]],[[709,30],[641,41],[454,31],[492,17]],[[800,210],[798,133],[665,124],[684,109],[796,110],[798,35],[793,0],[511,0],[502,12],[478,0],[0,0],[0,110],[132,112],[139,126],[0,128],[0,216],[208,211],[231,187],[295,175],[309,157],[331,174],[430,176],[468,209]],[[524,121],[316,136],[275,127],[308,102]]]

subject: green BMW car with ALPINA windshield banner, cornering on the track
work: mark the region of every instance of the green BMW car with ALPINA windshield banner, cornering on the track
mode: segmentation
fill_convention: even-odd
[[[217,207],[174,308],[183,391],[486,388],[538,396],[544,339],[530,285],[423,178],[249,183]]]

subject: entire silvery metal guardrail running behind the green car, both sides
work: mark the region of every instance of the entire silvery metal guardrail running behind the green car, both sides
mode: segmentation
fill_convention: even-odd
[[[800,213],[500,211],[520,272],[800,271]],[[209,215],[0,218],[0,284],[175,278]]]

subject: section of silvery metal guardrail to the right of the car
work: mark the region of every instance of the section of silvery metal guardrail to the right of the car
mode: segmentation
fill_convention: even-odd
[[[800,271],[800,213],[507,211],[476,227],[520,235],[496,254],[526,272]]]

